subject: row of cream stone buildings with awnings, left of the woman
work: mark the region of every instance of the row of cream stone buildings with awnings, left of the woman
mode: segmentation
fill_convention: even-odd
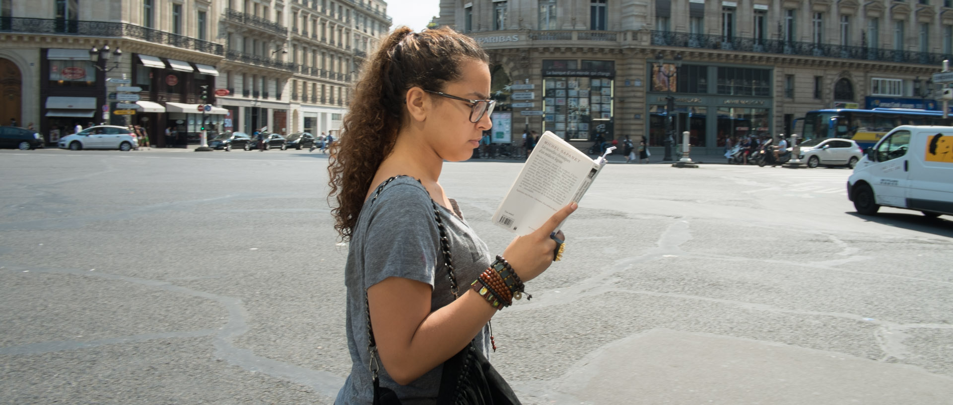
[[[153,144],[184,146],[198,142],[203,117],[213,132],[335,130],[356,68],[390,29],[386,8],[380,0],[0,0],[0,119],[33,123],[51,143],[75,124],[109,123],[171,128],[175,137]]]

